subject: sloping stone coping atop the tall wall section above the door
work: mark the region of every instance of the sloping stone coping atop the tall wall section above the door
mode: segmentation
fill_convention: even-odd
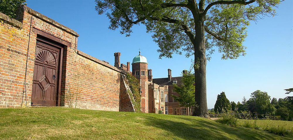
[[[33,16],[35,16],[35,17],[47,22],[47,23],[50,23],[50,24],[54,25],[55,27],[68,32],[69,34],[72,34],[72,35],[74,35],[76,37],[79,37],[79,34],[77,34],[77,32],[75,32],[74,30],[72,30],[72,29],[70,29],[70,28],[58,23],[55,20],[52,20],[51,18],[46,17],[45,15],[42,15],[41,13],[29,8],[28,6],[21,5],[21,8],[23,8],[29,14],[31,14],[31,15],[33,15]]]

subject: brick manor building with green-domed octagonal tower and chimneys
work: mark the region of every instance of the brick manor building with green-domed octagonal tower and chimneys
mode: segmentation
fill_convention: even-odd
[[[142,112],[145,113],[159,113],[172,115],[189,115],[189,108],[180,106],[180,104],[171,96],[178,96],[178,93],[173,91],[173,84],[180,85],[180,77],[172,77],[172,72],[168,69],[168,77],[153,79],[152,69],[148,69],[147,58],[139,55],[135,56],[132,60],[132,72],[130,71],[130,62],[127,65],[120,64],[121,53],[114,53],[115,64],[114,66],[129,72],[140,81],[142,90]],[[183,74],[187,70],[183,70]],[[194,108],[192,107],[192,112]]]

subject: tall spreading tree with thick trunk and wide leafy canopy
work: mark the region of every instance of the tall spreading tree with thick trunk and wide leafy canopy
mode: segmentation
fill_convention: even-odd
[[[195,115],[207,117],[206,64],[215,50],[222,59],[245,55],[243,41],[249,21],[275,15],[280,0],[95,0],[99,14],[110,19],[109,29],[130,36],[143,24],[159,46],[159,58],[173,53],[194,56]],[[206,53],[206,50],[208,53]]]

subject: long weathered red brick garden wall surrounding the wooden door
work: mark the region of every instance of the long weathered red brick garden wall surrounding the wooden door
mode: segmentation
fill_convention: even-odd
[[[25,107],[25,100],[30,106],[37,29],[69,44],[64,47],[61,94],[80,92],[77,108],[119,111],[121,70],[78,51],[76,32],[26,6],[17,19],[21,23],[0,14],[0,107]]]

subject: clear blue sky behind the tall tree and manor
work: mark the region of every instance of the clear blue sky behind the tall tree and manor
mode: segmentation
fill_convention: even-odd
[[[138,55],[139,48],[147,58],[154,78],[180,76],[189,69],[191,58],[174,55],[158,59],[158,46],[144,26],[134,26],[131,37],[119,30],[108,29],[109,20],[98,15],[93,0],[27,0],[27,6],[75,30],[78,49],[114,65],[114,52],[121,52],[120,62]],[[244,42],[246,56],[235,60],[221,60],[215,52],[207,62],[207,103],[214,108],[217,94],[224,91],[230,101],[241,101],[255,90],[267,91],[276,98],[284,98],[284,89],[293,87],[293,1],[283,1],[276,9],[278,15],[251,22]]]

